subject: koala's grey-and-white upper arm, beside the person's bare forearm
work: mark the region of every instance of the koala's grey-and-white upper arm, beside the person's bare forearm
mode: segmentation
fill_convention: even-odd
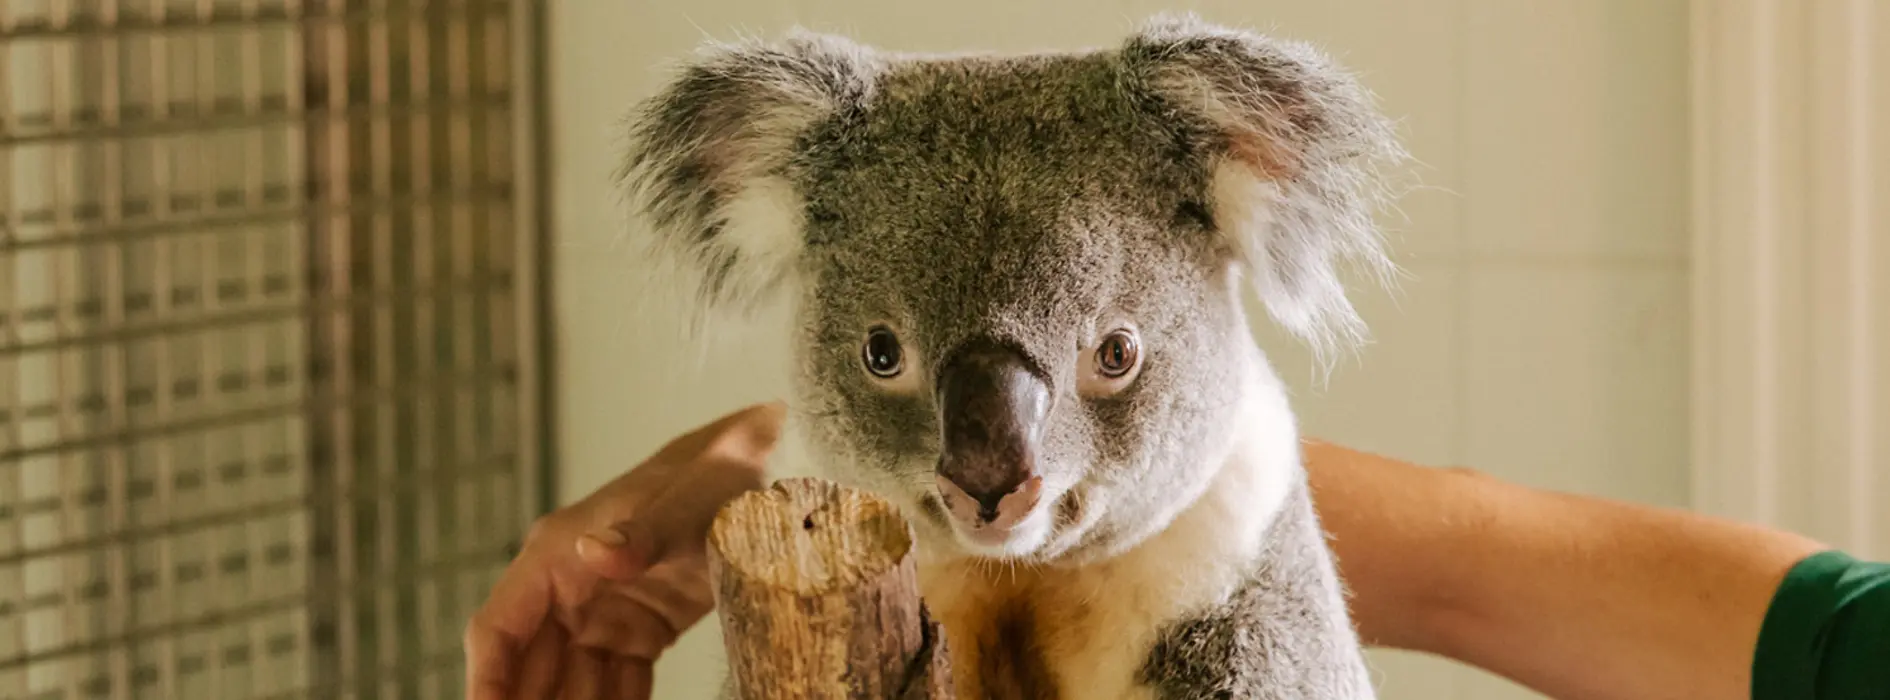
[[[1160,700],[1370,700],[1374,689],[1304,482],[1227,602],[1170,624],[1142,668]]]

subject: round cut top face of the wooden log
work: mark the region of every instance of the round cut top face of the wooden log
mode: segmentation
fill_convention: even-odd
[[[730,573],[796,594],[875,581],[913,551],[911,524],[886,499],[822,479],[782,479],[716,515],[709,549]]]

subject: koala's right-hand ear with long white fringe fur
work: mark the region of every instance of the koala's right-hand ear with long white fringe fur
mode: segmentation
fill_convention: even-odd
[[[1397,267],[1374,210],[1404,151],[1344,68],[1312,45],[1159,15],[1123,45],[1130,79],[1210,161],[1210,210],[1268,314],[1323,358],[1365,342],[1338,261]]]

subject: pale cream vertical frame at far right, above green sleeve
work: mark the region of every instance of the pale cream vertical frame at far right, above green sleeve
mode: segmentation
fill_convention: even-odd
[[[1692,0],[1693,505],[1890,556],[1879,0]]]

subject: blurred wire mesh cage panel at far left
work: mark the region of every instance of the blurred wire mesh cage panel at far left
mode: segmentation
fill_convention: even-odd
[[[529,0],[0,2],[0,698],[446,698],[542,507]]]

